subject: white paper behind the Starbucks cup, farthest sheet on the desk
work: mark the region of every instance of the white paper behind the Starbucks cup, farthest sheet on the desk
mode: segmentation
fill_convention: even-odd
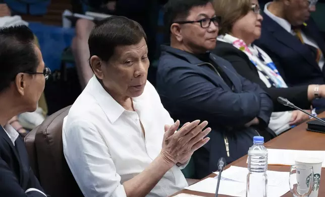
[[[323,160],[325,167],[325,151],[267,149],[269,165],[294,165],[297,157],[315,157]]]

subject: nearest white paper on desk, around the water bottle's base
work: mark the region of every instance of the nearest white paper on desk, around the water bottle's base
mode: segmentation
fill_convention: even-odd
[[[206,178],[200,182],[197,182],[185,189],[206,193],[215,193],[216,178]],[[290,189],[279,186],[268,186],[267,197],[280,197],[287,193]],[[220,182],[219,194],[231,195],[236,197],[246,196],[246,182],[237,182],[229,179],[223,179]]]

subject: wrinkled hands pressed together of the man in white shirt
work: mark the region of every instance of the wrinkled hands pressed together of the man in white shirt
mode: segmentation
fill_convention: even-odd
[[[185,163],[189,160],[194,151],[206,144],[210,138],[204,138],[210,133],[211,128],[206,128],[207,122],[196,120],[186,123],[181,129],[175,132],[180,126],[176,121],[173,125],[165,125],[163,148],[160,155],[172,164]],[[204,129],[204,131],[202,131]]]

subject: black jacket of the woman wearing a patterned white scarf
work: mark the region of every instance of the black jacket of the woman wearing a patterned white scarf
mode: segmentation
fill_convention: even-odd
[[[256,66],[249,60],[243,51],[237,49],[232,44],[218,41],[212,52],[228,60],[240,75],[262,87],[271,96],[275,112],[293,110],[292,108],[280,104],[277,101],[279,96],[285,97],[299,108],[310,109],[311,103],[308,101],[307,97],[308,85],[288,88],[267,88],[265,83],[259,78]],[[277,68],[280,68],[279,72],[281,76],[283,76],[284,74],[279,66],[279,62],[276,59],[273,60],[273,62],[276,64]],[[284,78],[284,80],[286,79]]]

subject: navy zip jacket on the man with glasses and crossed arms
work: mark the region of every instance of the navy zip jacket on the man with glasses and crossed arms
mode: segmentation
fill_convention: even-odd
[[[212,131],[210,141],[193,154],[196,178],[218,169],[218,160],[230,163],[247,154],[252,139],[258,135],[244,125],[255,117],[266,128],[273,111],[272,101],[257,84],[237,74],[231,64],[210,54],[210,60],[232,81],[230,87],[207,62],[169,46],[161,47],[157,70],[157,91],[171,117],[181,123],[206,120]],[[225,136],[229,141],[227,156]]]

